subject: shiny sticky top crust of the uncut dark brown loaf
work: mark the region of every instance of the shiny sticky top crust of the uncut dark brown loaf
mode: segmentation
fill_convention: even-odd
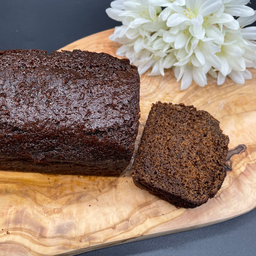
[[[62,132],[132,127],[140,78],[129,60],[74,50],[0,52],[0,123]]]

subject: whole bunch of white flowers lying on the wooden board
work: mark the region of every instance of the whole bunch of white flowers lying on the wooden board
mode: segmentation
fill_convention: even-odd
[[[138,66],[140,74],[163,75],[173,68],[184,90],[207,73],[222,84],[250,79],[256,67],[256,20],[245,0],[116,0],[106,10],[122,22],[110,39],[122,44],[117,54]],[[233,15],[241,16],[237,20]]]

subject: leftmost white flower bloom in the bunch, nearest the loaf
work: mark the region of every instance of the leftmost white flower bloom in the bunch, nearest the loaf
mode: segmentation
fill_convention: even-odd
[[[158,21],[162,8],[148,0],[116,0],[111,7],[106,10],[108,16],[123,24],[110,36],[122,44],[116,53],[137,65],[140,74],[152,67],[151,75],[164,75],[164,68],[171,68],[175,60],[167,57],[170,47],[157,41],[159,30],[166,27],[165,22]]]

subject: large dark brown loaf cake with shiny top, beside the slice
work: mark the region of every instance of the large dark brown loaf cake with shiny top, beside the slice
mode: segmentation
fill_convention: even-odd
[[[0,170],[118,175],[139,125],[137,67],[106,53],[0,52]]]

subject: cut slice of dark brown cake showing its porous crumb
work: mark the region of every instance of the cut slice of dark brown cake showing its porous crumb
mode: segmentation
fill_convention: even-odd
[[[132,167],[133,181],[175,206],[204,204],[226,176],[228,142],[208,112],[184,104],[153,104]]]

